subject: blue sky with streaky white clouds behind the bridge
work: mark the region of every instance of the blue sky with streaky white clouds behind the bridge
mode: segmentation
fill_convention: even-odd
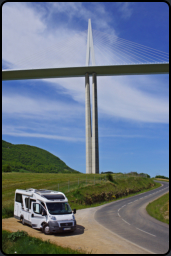
[[[169,52],[164,2],[9,2],[2,7],[3,69],[85,65],[89,18],[95,35]],[[94,47],[100,65],[107,46],[102,55]],[[97,84],[100,172],[169,176],[169,75],[104,76]],[[2,139],[43,148],[85,173],[85,79],[3,81]]]

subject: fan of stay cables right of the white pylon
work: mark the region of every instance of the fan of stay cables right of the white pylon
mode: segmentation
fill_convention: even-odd
[[[92,31],[96,65],[169,62],[168,53],[94,29]]]

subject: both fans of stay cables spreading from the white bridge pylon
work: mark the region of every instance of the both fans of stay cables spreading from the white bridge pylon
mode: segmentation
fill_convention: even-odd
[[[95,64],[126,65],[145,63],[168,63],[169,54],[123,39],[115,35],[92,30]],[[12,69],[41,69],[85,66],[87,30],[53,38],[52,44],[28,46],[11,62]]]

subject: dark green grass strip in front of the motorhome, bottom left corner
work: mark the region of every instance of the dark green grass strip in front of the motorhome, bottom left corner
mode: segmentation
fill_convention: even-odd
[[[63,248],[49,240],[30,237],[25,231],[10,233],[6,230],[2,230],[2,251],[5,254],[86,254],[83,250]]]

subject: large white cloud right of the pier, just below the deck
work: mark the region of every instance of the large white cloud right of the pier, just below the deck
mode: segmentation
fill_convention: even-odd
[[[141,77],[139,78],[141,80]],[[140,122],[168,123],[168,97],[153,96],[143,90],[136,89],[136,78],[103,77],[98,82],[99,111],[104,115],[124,118]],[[104,85],[107,86],[104,86]],[[150,79],[146,78],[150,86]],[[156,85],[157,86],[157,85]]]

